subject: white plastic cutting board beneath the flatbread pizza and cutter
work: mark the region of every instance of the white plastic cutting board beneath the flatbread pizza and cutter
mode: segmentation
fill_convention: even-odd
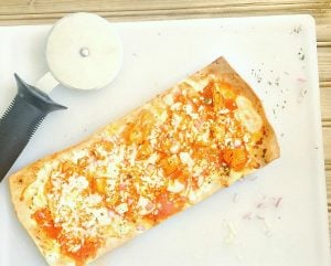
[[[93,265],[329,265],[313,19],[114,25],[125,49],[117,79],[98,92],[57,87],[51,96],[68,109],[45,119],[11,172],[86,138],[220,55],[261,98],[281,158]],[[15,95],[14,72],[32,84],[46,72],[43,51],[49,30],[50,25],[0,28],[0,114]],[[0,265],[45,265],[14,215],[8,180],[0,184]]]

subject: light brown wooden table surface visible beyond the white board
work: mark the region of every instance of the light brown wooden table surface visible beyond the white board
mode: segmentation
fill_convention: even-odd
[[[0,0],[0,24],[51,23],[70,12],[111,21],[309,13],[317,23],[321,109],[331,225],[331,0]],[[331,227],[331,226],[330,226]]]

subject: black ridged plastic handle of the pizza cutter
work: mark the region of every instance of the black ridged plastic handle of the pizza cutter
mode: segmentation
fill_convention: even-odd
[[[65,106],[24,83],[17,74],[18,94],[0,119],[0,182],[28,145],[45,116]]]

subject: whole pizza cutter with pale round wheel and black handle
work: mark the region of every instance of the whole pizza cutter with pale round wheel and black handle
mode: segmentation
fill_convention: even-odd
[[[74,13],[54,24],[45,56],[49,72],[35,86],[14,74],[18,94],[0,119],[0,181],[46,115],[66,108],[47,94],[58,84],[82,91],[107,86],[120,70],[122,47],[107,20]]]

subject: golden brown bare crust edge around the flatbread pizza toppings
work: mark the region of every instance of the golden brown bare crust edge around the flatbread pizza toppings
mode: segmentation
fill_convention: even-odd
[[[258,151],[260,152],[259,157],[264,158],[264,160],[260,161],[260,164],[264,166],[264,164],[273,161],[274,159],[278,158],[279,157],[279,147],[277,143],[275,131],[266,118],[266,115],[265,115],[265,111],[264,111],[260,100],[258,99],[256,94],[253,92],[253,89],[249,87],[249,85],[247,83],[245,83],[243,81],[243,78],[241,78],[241,76],[229,66],[229,64],[223,57],[217,58],[215,62],[210,64],[207,67],[193,74],[191,77],[189,77],[188,79],[183,81],[180,84],[181,85],[185,84],[184,86],[189,86],[188,83],[190,81],[200,84],[203,82],[203,78],[205,76],[216,76],[217,78],[222,78],[225,83],[228,83],[232,85],[232,88],[234,89],[235,94],[243,95],[253,103],[254,108],[257,110],[260,118],[263,119],[263,126],[264,126],[263,142],[261,142],[260,148],[258,149]],[[177,86],[179,86],[179,85],[177,85]],[[129,115],[115,121],[114,124],[111,124],[111,126],[106,126],[105,128],[98,130],[93,136],[90,136],[87,140],[83,141],[74,147],[67,148],[63,151],[56,152],[52,156],[49,156],[44,159],[41,159],[41,160],[28,166],[26,168],[20,170],[12,177],[10,177],[9,182],[10,182],[12,202],[14,204],[18,217],[21,221],[21,223],[23,224],[23,226],[25,227],[25,230],[29,232],[31,237],[34,240],[39,249],[41,251],[41,253],[44,256],[47,256],[47,251],[50,249],[50,246],[53,245],[53,242],[51,238],[49,238],[43,233],[43,231],[41,228],[39,228],[36,226],[36,223],[31,217],[29,208],[31,205],[32,199],[26,198],[26,196],[22,198],[24,190],[26,190],[26,188],[35,181],[36,172],[46,162],[60,160],[67,152],[71,152],[73,150],[79,150],[84,147],[87,147],[89,143],[92,143],[96,139],[100,138],[100,136],[105,131],[111,130],[111,128],[114,128],[114,125],[121,126],[121,125],[125,125],[128,120],[135,120],[136,114],[138,114],[139,110],[141,110],[141,108],[148,108],[147,107],[148,104],[156,103],[156,100],[158,100],[158,98],[163,97],[168,93],[169,93],[169,91],[166,91],[163,94],[159,95],[152,102],[147,103],[142,107],[136,109],[135,111],[130,113]],[[199,202],[199,201],[205,199],[206,196],[209,196],[216,190],[220,190],[224,185],[229,185],[231,183],[233,183],[234,181],[236,181],[243,174],[246,174],[246,173],[247,172],[233,173],[229,181],[226,184],[217,183],[217,184],[210,187],[210,190],[207,192],[205,192],[204,194],[201,194],[200,198],[196,199],[195,202]],[[106,245],[97,251],[97,257],[111,251],[113,248],[124,244],[125,242],[129,241],[130,238],[135,237],[138,234],[139,234],[139,232],[136,231],[131,235],[128,235],[122,238],[108,238]],[[60,265],[71,265],[70,263],[74,263],[74,260],[72,258],[62,254],[61,252],[58,252],[57,255],[58,255],[58,257],[53,259],[52,262],[50,258],[46,257],[50,265],[60,266]],[[92,258],[89,260],[92,260]]]

